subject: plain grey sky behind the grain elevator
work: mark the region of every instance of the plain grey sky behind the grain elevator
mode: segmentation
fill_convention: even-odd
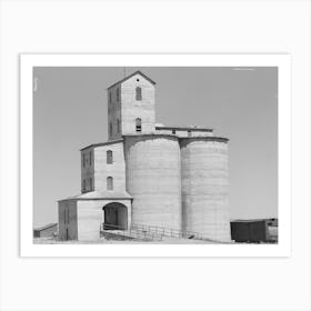
[[[156,118],[208,126],[230,139],[231,218],[278,215],[277,68],[127,68],[157,82]],[[107,140],[107,87],[123,68],[36,68],[34,227],[57,221],[57,200],[80,193],[79,149]]]

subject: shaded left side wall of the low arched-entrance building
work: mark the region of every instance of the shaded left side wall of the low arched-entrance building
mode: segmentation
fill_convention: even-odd
[[[58,207],[59,217],[59,238],[61,240],[77,240],[78,239],[78,219],[77,219],[77,201],[63,200],[59,201]],[[68,237],[67,237],[68,230]]]

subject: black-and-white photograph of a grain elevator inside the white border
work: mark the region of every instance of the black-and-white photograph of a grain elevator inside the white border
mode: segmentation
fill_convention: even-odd
[[[278,67],[34,67],[33,243],[278,243]]]

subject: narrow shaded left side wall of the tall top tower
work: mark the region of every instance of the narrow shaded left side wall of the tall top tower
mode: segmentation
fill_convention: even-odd
[[[117,92],[120,92],[119,100],[117,98]],[[121,123],[121,84],[118,83],[110,88],[107,92],[108,96],[108,139],[114,140],[121,138],[122,123]],[[111,97],[111,102],[110,102]],[[120,120],[120,131],[118,131],[118,120]],[[112,126],[112,132],[110,132],[110,123]]]

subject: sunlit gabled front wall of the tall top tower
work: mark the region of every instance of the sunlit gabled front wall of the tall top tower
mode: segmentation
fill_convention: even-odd
[[[137,81],[139,80],[139,81]],[[136,88],[142,90],[142,100],[136,100]],[[142,123],[141,133],[156,131],[154,86],[140,74],[136,74],[121,84],[122,134],[136,133],[136,119]]]

